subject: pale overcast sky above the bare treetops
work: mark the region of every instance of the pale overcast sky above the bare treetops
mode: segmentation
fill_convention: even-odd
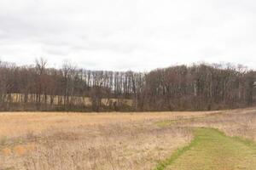
[[[148,71],[194,62],[256,68],[255,0],[0,0],[0,59]]]

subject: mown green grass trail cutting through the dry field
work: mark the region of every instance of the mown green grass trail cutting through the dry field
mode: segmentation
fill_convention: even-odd
[[[195,128],[195,139],[155,170],[255,170],[256,144],[212,128]]]

